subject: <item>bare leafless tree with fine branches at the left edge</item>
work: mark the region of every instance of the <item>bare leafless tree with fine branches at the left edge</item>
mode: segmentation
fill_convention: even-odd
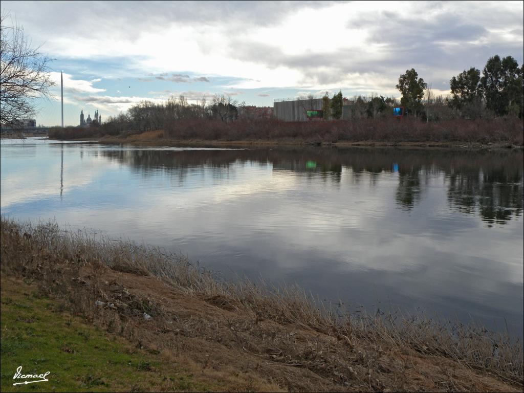
[[[49,97],[54,85],[49,75],[52,60],[33,48],[24,28],[13,24],[9,13],[0,17],[0,123],[16,125],[35,117],[33,99]]]

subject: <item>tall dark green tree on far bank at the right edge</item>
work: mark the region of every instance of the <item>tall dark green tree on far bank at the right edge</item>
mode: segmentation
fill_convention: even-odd
[[[490,57],[484,67],[481,85],[486,107],[496,116],[509,113],[522,116],[522,67],[511,56],[500,59],[498,54]]]

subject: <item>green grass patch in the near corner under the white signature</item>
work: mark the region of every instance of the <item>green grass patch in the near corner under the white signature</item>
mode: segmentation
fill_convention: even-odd
[[[59,312],[34,287],[2,278],[1,384],[4,391],[206,391],[187,369]],[[49,382],[13,386],[22,374]],[[24,381],[18,379],[16,382]],[[218,388],[220,390],[220,388]]]

